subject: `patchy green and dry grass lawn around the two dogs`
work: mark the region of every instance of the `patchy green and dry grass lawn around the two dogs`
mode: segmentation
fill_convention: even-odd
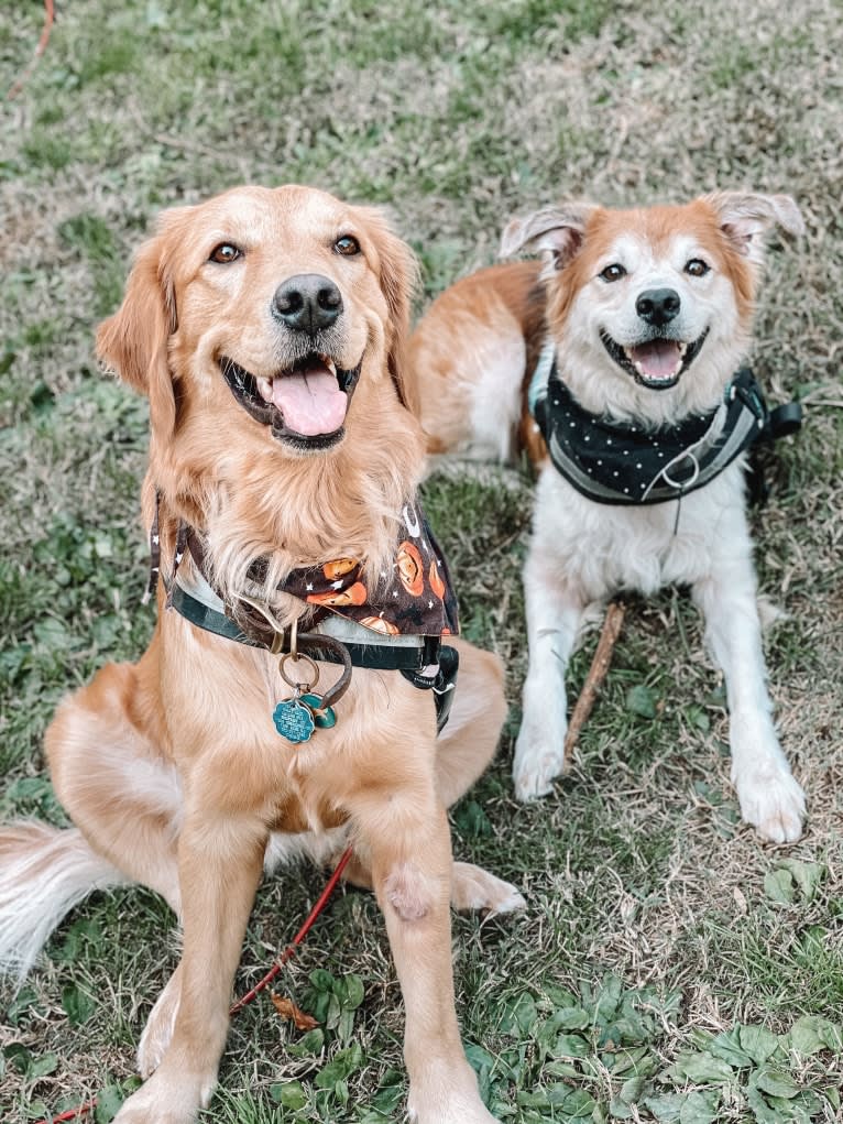
[[[420,308],[491,262],[507,217],[540,202],[789,191],[808,234],[771,248],[753,362],[773,400],[801,399],[807,425],[776,450],[754,523],[762,588],[788,613],[768,656],[809,798],[799,844],[764,847],[740,823],[722,688],[695,611],[670,591],[631,610],[571,773],[553,797],[517,805],[508,763],[531,482],[443,473],[425,499],[465,632],[505,660],[513,704],[498,762],[452,815],[460,856],[529,903],[520,917],[454,922],[464,1039],[495,1113],[525,1124],[840,1120],[837,6],[58,7],[25,90],[0,102],[0,815],[61,822],[40,749],[52,710],[107,659],[136,658],[151,633],[137,515],[145,405],[99,374],[91,341],[160,208],[239,181],[388,205],[422,262]],[[0,90],[40,20],[35,0],[0,12]],[[302,867],[262,888],[238,989],[321,879]],[[178,959],[171,925],[154,896],[129,889],[67,919],[25,989],[6,992],[2,1120],[97,1091],[110,1118]],[[342,891],[280,987],[325,1007],[325,1025],[302,1035],[269,1001],[244,1012],[207,1118],[399,1118],[400,1004],[374,901]]]

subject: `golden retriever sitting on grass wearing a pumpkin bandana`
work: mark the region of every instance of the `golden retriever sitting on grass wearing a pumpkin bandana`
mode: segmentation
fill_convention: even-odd
[[[418,532],[415,517],[404,524],[424,460],[402,357],[413,277],[379,211],[308,188],[238,188],[163,216],[98,352],[149,398],[145,511],[171,591],[180,560],[179,589],[216,598],[245,634],[257,606],[280,638],[294,622],[316,627],[314,605],[279,589],[297,569],[335,577],[356,560],[372,586],[396,572],[396,544]],[[199,553],[184,550],[188,526]],[[94,886],[161,894],[183,954],[140,1041],[148,1079],[117,1122],[188,1124],[215,1087],[264,861],[324,862],[351,842],[350,877],[378,896],[406,1005],[410,1115],[491,1121],[460,1041],[448,905],[523,899],[452,861],[445,809],[495,751],[498,660],[454,642],[460,683],[438,740],[432,691],[355,667],[335,725],[293,744],[273,728],[273,707],[300,692],[297,676],[316,689],[307,668],[294,662],[292,689],[278,654],[197,627],[169,607],[163,582],[157,608],[140,660],[105,667],[47,732],[75,827],[0,832],[6,967],[26,970]],[[333,691],[341,665],[318,672],[318,690]]]

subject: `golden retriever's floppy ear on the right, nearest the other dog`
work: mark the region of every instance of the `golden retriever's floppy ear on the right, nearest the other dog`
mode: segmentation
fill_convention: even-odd
[[[378,252],[381,291],[389,309],[389,324],[387,325],[389,373],[396,384],[401,405],[418,417],[418,391],[409,378],[405,359],[410,329],[410,298],[418,277],[418,264],[407,243],[393,233],[383,211],[377,207],[357,207],[355,209]]]

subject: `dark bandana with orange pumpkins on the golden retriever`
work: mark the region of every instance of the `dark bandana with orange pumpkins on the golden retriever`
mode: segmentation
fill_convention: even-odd
[[[404,532],[393,561],[369,582],[357,559],[292,570],[278,587],[308,605],[348,617],[384,636],[451,636],[459,632],[456,598],[445,559],[418,502],[405,504]],[[265,580],[266,563],[248,577]]]

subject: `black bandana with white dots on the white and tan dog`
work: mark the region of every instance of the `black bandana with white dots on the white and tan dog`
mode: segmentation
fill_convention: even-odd
[[[769,418],[745,368],[716,409],[672,426],[651,429],[589,414],[555,362],[533,409],[556,470],[583,496],[614,505],[664,504],[701,488],[765,435]]]

